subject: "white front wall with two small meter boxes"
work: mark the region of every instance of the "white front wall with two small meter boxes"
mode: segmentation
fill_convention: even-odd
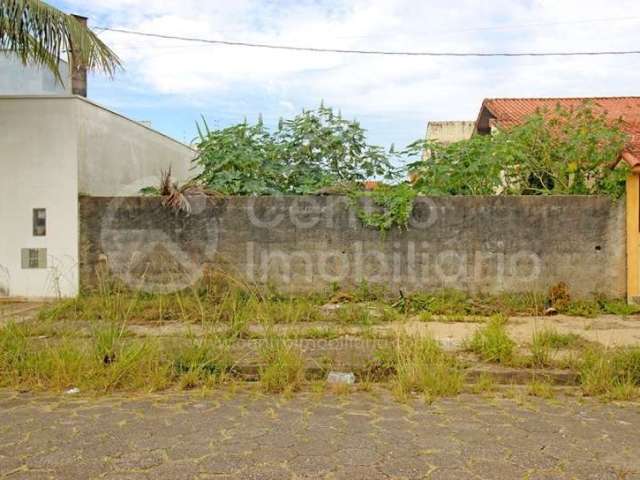
[[[0,295],[47,297],[78,290],[78,176],[74,105],[0,99]],[[32,211],[47,210],[34,237]],[[22,248],[47,248],[46,269],[22,269]]]

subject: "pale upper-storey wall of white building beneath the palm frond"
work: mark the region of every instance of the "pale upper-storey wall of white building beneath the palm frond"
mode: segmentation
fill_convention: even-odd
[[[64,85],[46,68],[24,66],[15,55],[0,51],[0,95],[69,95],[71,77],[66,62],[60,63]]]

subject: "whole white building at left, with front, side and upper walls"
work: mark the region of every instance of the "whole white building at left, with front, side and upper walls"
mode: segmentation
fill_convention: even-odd
[[[194,174],[187,145],[50,80],[0,56],[0,296],[78,293],[79,195],[136,195],[169,167],[177,181]]]

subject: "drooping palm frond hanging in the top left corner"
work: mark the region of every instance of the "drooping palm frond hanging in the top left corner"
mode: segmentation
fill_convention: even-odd
[[[113,76],[118,56],[77,19],[41,0],[0,0],[0,49],[23,64],[48,68],[63,83],[62,56],[75,53],[76,65]]]

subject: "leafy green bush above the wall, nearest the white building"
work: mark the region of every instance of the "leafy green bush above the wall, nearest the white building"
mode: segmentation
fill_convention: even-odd
[[[397,173],[357,121],[324,105],[281,120],[273,132],[262,119],[211,130],[203,118],[196,147],[197,179],[227,195],[313,193]]]

